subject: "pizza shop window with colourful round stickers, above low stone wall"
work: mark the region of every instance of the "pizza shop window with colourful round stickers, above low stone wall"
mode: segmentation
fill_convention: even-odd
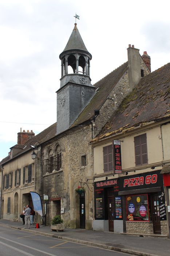
[[[126,196],[127,221],[149,221],[148,195]]]

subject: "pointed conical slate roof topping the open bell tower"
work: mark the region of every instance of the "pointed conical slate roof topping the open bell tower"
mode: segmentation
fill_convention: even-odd
[[[76,23],[63,52],[67,50],[83,50],[88,52],[86,46],[84,45],[83,39],[79,33]]]

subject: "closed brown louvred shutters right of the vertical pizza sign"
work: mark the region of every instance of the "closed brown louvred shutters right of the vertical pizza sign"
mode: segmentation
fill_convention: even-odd
[[[148,163],[146,133],[134,137],[134,145],[136,166],[146,165]]]

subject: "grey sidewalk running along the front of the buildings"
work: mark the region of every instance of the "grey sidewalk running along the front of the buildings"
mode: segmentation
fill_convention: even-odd
[[[0,225],[23,229],[22,222],[12,222],[1,219]],[[44,236],[56,237],[67,241],[126,252],[133,255],[170,255],[170,239],[166,237],[139,237],[135,235],[114,234],[112,232],[86,229],[64,229],[63,232],[55,232],[51,231],[49,226],[40,226],[40,229],[35,229],[35,225],[30,226],[30,229],[24,230]]]

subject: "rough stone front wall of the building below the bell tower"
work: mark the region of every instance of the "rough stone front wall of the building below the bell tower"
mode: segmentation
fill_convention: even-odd
[[[91,125],[80,125],[63,135],[56,136],[42,150],[42,179],[43,187],[40,194],[49,195],[47,205],[47,219],[51,220],[54,215],[54,201],[52,198],[61,197],[61,207],[64,207],[62,218],[67,227],[80,227],[79,213],[79,196],[76,195],[75,188],[80,185],[79,181],[86,182],[87,178],[92,178],[93,174],[93,151],[89,146],[89,141],[92,138]],[[62,167],[60,171],[54,170],[48,173],[48,152],[56,154],[56,147],[60,147],[62,152]],[[51,154],[51,153],[50,153]],[[81,157],[86,155],[86,166],[81,166]],[[86,228],[92,228],[92,192],[86,188]],[[90,189],[92,190],[92,184]],[[44,206],[43,206],[44,207]],[[49,223],[49,221],[48,221]]]

